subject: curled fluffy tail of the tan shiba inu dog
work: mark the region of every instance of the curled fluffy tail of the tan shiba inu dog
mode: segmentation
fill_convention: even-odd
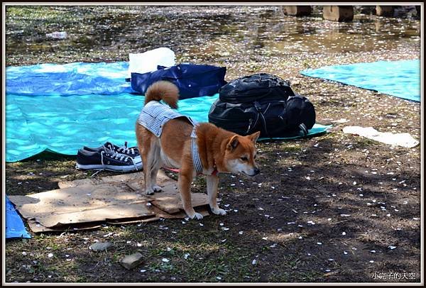
[[[145,105],[149,101],[160,101],[163,100],[168,106],[173,109],[178,108],[178,99],[179,99],[179,88],[168,81],[158,81],[151,84],[150,87],[146,90],[145,94]]]

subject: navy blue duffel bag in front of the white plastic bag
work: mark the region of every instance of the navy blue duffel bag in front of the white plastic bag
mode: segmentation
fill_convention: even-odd
[[[154,82],[165,80],[179,88],[179,99],[198,96],[212,96],[226,84],[226,67],[212,65],[179,64],[172,67],[158,66],[158,70],[148,73],[131,73],[131,88],[145,94]]]

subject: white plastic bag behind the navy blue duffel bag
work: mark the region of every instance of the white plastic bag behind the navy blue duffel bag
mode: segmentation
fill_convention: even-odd
[[[129,53],[129,78],[132,72],[147,73],[157,70],[157,65],[175,65],[175,52],[161,47],[143,53]]]

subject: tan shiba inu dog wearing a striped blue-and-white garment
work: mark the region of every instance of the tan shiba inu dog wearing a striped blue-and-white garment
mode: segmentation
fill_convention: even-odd
[[[207,176],[210,209],[214,214],[224,215],[226,211],[217,204],[217,173],[258,175],[255,144],[260,132],[241,136],[211,123],[196,123],[173,110],[178,108],[178,99],[178,87],[167,81],[153,83],[146,92],[145,106],[136,122],[145,192],[161,191],[156,184],[160,167],[179,168],[178,188],[185,213],[201,219],[202,215],[192,207],[190,189],[192,179],[203,174]]]

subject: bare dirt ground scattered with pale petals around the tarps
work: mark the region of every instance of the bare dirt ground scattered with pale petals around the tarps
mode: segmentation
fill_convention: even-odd
[[[127,60],[130,51],[169,45],[178,62],[226,66],[227,80],[255,72],[288,79],[315,105],[317,123],[332,124],[318,137],[258,143],[261,175],[221,175],[226,216],[8,240],[6,282],[420,282],[420,145],[393,148],[342,132],[344,126],[372,126],[420,140],[420,104],[299,74],[307,67],[418,59],[415,28],[377,47],[330,48],[339,40],[325,37],[292,52],[272,45],[278,40],[267,33],[270,26],[272,34],[284,33],[295,21],[279,13],[273,7],[6,11],[7,65]],[[356,19],[361,26],[311,17],[300,27],[337,35],[377,22],[405,31],[420,27],[414,20]],[[45,43],[44,33],[58,28],[74,31],[75,38]],[[364,40],[375,45],[368,33]],[[347,122],[333,122],[342,118]],[[75,169],[75,157],[36,155],[6,163],[6,194],[57,189],[58,181],[90,175]],[[98,177],[104,175],[114,173]],[[198,177],[193,191],[205,190]],[[95,240],[114,246],[95,253],[89,250]],[[121,258],[136,251],[143,263],[131,271],[121,267]],[[381,273],[386,277],[378,279]]]

